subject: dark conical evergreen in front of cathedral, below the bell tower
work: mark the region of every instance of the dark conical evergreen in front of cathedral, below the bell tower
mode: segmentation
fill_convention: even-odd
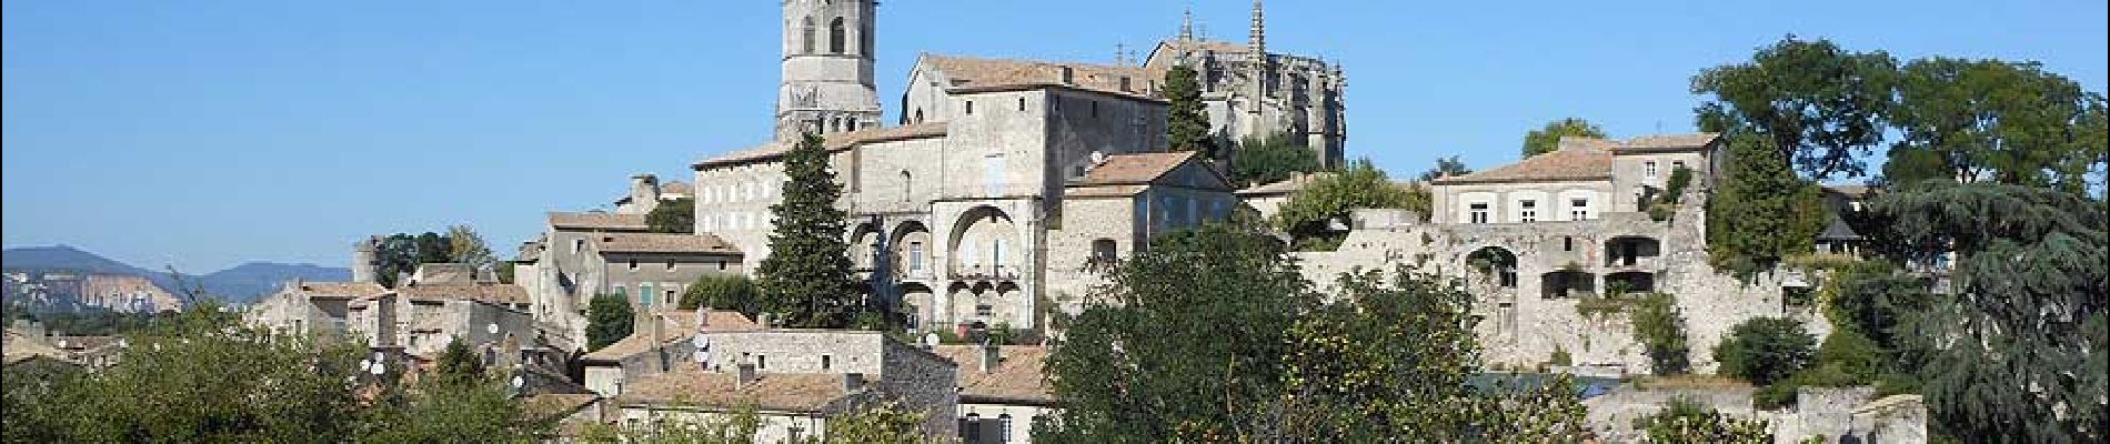
[[[844,328],[863,311],[838,198],[842,185],[827,168],[827,149],[821,137],[806,135],[785,154],[783,202],[770,206],[770,257],[755,269],[762,309],[783,326]]]

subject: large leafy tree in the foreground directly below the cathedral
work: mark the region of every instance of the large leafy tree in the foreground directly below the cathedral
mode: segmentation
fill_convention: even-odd
[[[1053,442],[1228,438],[1281,393],[1289,328],[1319,297],[1281,244],[1207,225],[1110,271],[1047,360]]]

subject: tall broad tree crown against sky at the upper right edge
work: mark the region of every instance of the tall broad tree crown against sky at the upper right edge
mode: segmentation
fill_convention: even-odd
[[[2040,63],[1918,59],[1905,63],[1891,156],[1926,152],[1905,177],[1967,177],[2087,191],[2104,166],[2104,97]],[[1929,162],[1933,160],[1933,162]],[[1916,170],[1916,168],[1939,170]],[[1888,170],[1888,166],[1886,166]]]

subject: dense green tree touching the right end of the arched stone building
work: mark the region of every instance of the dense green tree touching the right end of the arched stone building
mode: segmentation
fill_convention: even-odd
[[[1825,204],[1815,183],[1787,168],[1781,152],[1756,135],[1728,141],[1728,177],[1707,202],[1709,263],[1751,276],[1815,248]]]

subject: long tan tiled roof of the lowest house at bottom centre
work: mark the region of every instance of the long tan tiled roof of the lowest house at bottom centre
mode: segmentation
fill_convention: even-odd
[[[844,375],[840,372],[762,372],[753,383],[741,385],[732,372],[705,372],[696,366],[677,366],[671,372],[641,377],[622,385],[618,404],[677,404],[738,408],[753,404],[762,410],[819,412],[833,400],[842,400]]]

